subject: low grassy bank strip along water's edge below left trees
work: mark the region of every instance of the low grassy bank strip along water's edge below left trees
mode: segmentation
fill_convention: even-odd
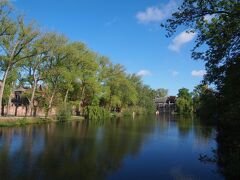
[[[71,120],[82,120],[83,117],[72,117]],[[70,121],[71,121],[70,120]],[[26,126],[31,124],[46,124],[59,122],[55,118],[41,117],[0,117],[0,127]]]

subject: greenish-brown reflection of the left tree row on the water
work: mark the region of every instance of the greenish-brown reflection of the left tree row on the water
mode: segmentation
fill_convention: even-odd
[[[104,126],[83,121],[1,129],[0,176],[105,179],[126,156],[138,153],[154,127],[147,124],[148,119],[142,118]]]

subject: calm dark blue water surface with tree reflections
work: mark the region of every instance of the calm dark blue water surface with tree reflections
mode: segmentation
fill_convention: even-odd
[[[0,179],[223,179],[215,129],[161,116],[0,129]]]

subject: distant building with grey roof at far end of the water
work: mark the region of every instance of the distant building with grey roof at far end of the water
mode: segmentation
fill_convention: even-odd
[[[154,103],[158,112],[174,112],[176,110],[176,96],[156,97]]]

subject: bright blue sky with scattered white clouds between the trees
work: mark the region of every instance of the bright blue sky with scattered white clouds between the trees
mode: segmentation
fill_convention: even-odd
[[[47,31],[65,34],[142,76],[150,87],[193,90],[205,74],[204,63],[191,59],[196,34],[187,27],[166,38],[160,24],[179,0],[14,0],[17,12]]]

